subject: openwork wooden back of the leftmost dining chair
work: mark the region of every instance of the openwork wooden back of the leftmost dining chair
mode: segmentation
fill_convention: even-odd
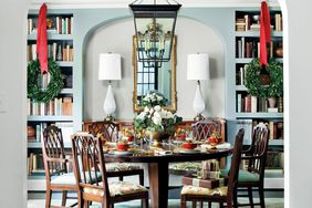
[[[51,125],[43,131],[42,156],[46,181],[67,173],[62,131],[58,126]]]

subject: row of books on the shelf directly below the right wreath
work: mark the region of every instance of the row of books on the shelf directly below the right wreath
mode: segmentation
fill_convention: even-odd
[[[281,98],[278,100],[278,104],[274,107],[269,107],[268,100],[266,97],[251,96],[246,93],[237,94],[237,113],[282,113],[283,104]]]

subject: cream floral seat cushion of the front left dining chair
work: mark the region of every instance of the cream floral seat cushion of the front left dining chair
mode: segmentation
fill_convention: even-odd
[[[98,186],[103,187],[103,183],[100,183]],[[128,195],[134,193],[145,193],[147,189],[144,186],[132,184],[128,181],[111,181],[108,184],[110,195],[112,197],[118,195]],[[97,196],[104,196],[103,189],[85,187],[84,193],[93,194]]]

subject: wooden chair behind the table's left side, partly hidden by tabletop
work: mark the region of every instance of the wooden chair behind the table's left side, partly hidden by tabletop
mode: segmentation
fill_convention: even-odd
[[[93,122],[87,126],[87,132],[93,136],[102,134],[107,142],[117,142],[119,125],[114,122]],[[141,185],[144,185],[144,169],[136,164],[128,163],[107,163],[106,164],[107,177],[118,177],[123,180],[125,176],[138,175]]]

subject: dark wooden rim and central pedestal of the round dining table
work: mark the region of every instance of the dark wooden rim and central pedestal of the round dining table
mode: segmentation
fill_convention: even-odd
[[[169,163],[216,159],[226,157],[231,152],[232,148],[211,149],[207,153],[148,156],[105,154],[105,162],[147,163],[152,208],[166,208],[168,206]]]

